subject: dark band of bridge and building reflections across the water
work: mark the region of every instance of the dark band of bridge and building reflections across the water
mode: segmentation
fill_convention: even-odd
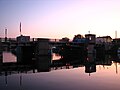
[[[3,55],[3,57],[2,57]],[[64,58],[57,54],[53,54],[53,56],[37,56],[34,59],[30,57],[21,58],[17,56],[17,60],[15,62],[8,60],[5,62],[5,55],[7,57],[15,59],[12,54],[5,52],[5,54],[1,54],[0,58],[0,73],[1,75],[6,75],[7,71],[16,71],[16,72],[28,72],[33,71],[36,72],[49,72],[51,70],[57,69],[70,69],[70,68],[78,68],[85,67],[85,73],[93,73],[96,72],[97,65],[103,66],[111,66],[113,63],[117,66],[116,63],[120,62],[119,55],[118,56],[110,56],[110,55],[102,55],[95,56],[93,54],[88,54],[87,56],[77,56],[74,58]],[[12,55],[12,57],[11,57]],[[114,62],[112,62],[114,61]],[[116,67],[117,68],[117,67]],[[4,73],[3,73],[4,72]],[[117,73],[117,70],[116,70]],[[8,75],[8,74],[7,74]]]

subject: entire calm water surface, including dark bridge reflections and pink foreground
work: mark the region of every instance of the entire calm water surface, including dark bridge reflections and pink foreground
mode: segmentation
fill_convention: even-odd
[[[59,57],[54,55],[28,58],[32,63],[22,63],[27,58],[19,59],[20,62],[3,62],[1,57],[0,90],[16,90],[20,87],[29,90],[120,89],[120,59],[117,55]]]

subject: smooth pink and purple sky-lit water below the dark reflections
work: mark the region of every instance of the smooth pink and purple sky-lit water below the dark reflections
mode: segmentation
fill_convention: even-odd
[[[111,69],[99,70],[91,76],[84,73],[84,67],[21,74],[21,82],[20,74],[14,74],[7,76],[7,85],[4,78],[0,77],[0,90],[19,88],[26,90],[119,90],[119,75],[114,71],[111,74]]]

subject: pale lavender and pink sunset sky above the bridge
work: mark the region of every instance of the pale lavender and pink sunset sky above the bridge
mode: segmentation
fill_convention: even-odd
[[[0,0],[0,37],[72,39],[76,34],[120,37],[120,0]]]

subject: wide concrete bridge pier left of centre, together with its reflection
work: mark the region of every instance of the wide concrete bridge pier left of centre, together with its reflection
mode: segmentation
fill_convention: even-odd
[[[49,71],[49,67],[51,63],[49,39],[38,38],[35,45],[35,57],[36,57],[38,72]]]

